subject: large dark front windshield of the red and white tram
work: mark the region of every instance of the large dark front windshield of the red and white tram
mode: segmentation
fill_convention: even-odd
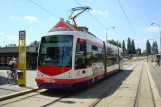
[[[72,35],[42,37],[38,64],[42,66],[72,66]]]

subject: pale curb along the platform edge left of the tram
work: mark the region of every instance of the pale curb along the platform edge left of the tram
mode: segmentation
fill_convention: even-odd
[[[30,88],[30,87],[27,87],[27,88]],[[8,95],[3,95],[3,96],[0,96],[0,101],[8,100],[10,98],[18,97],[18,96],[28,94],[28,93],[31,93],[31,92],[35,92],[35,91],[38,91],[38,90],[40,90],[40,89],[39,88],[27,89],[27,90],[24,90],[24,91],[15,92],[15,93],[8,94]]]

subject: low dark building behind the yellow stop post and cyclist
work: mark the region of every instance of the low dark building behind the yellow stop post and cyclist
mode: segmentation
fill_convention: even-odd
[[[31,43],[26,47],[26,67],[36,69],[37,49],[39,42]],[[0,47],[0,66],[7,67],[10,60],[16,58],[18,61],[18,47]]]

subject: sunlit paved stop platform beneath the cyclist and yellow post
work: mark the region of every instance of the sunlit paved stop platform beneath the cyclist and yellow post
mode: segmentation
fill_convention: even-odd
[[[25,87],[8,84],[7,77],[7,70],[0,70],[0,101],[38,89],[35,83],[36,70],[27,70]]]

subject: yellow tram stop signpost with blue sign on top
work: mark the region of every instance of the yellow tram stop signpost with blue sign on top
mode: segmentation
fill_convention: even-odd
[[[19,31],[18,41],[18,84],[26,86],[26,31]]]

